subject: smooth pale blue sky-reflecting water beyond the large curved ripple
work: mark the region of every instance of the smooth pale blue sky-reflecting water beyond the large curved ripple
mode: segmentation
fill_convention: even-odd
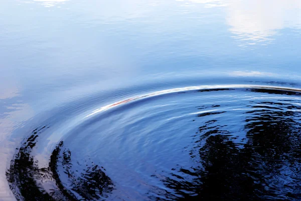
[[[108,86],[301,75],[300,10],[299,0],[4,0],[0,145],[62,99]]]

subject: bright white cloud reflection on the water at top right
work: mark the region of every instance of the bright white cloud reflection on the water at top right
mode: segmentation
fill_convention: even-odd
[[[224,7],[225,20],[234,36],[244,45],[269,43],[280,29],[301,28],[299,0],[177,0],[204,4],[205,8]],[[297,33],[300,34],[300,33]]]

